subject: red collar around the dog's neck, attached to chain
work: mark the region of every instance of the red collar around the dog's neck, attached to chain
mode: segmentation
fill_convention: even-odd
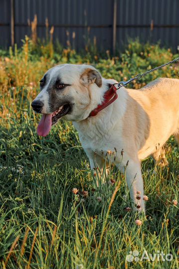
[[[117,89],[115,87],[115,85],[111,85],[111,87],[109,88],[109,90],[107,90],[107,92],[105,92],[104,94],[104,101],[101,105],[98,105],[96,109],[94,109],[89,117],[94,117],[98,114],[98,112],[100,112],[101,110],[103,110],[104,108],[108,107],[110,104],[112,104],[117,98]]]

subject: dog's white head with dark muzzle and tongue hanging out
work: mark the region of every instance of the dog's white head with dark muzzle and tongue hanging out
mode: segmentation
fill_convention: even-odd
[[[87,118],[101,101],[100,73],[90,65],[62,64],[49,69],[40,80],[40,93],[31,106],[43,114],[37,133],[46,136],[64,117],[70,121]]]

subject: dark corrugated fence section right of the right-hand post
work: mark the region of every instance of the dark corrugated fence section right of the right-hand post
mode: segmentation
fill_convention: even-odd
[[[117,41],[139,36],[177,50],[179,45],[179,0],[119,0]],[[151,32],[150,24],[154,22]],[[168,26],[168,27],[167,27]],[[176,27],[175,27],[176,26]],[[122,41],[121,41],[122,40]]]

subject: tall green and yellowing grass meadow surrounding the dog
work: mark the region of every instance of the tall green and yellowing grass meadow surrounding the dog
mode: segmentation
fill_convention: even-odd
[[[38,53],[37,52],[38,49]],[[76,54],[50,45],[1,51],[0,57],[0,268],[118,269],[179,267],[179,149],[167,143],[169,168],[151,157],[142,163],[146,217],[131,206],[125,175],[115,168],[96,186],[88,159],[70,122],[61,121],[45,137],[36,134],[38,115],[30,103],[43,73],[57,63],[92,63],[106,78],[119,81],[175,58],[159,45],[131,42],[119,57],[107,51]],[[157,77],[178,77],[178,65],[134,81],[141,88]],[[115,182],[111,184],[111,181]],[[78,195],[72,192],[79,189]],[[119,191],[118,191],[119,188]],[[83,191],[88,191],[84,196]],[[135,221],[140,219],[141,226]],[[164,252],[173,260],[127,262],[130,251],[142,257]]]

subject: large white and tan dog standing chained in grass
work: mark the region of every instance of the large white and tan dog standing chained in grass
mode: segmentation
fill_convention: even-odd
[[[159,78],[140,90],[121,87],[113,103],[91,116],[115,83],[90,65],[52,67],[31,104],[42,114],[37,134],[46,136],[61,118],[72,121],[91,169],[102,169],[103,156],[114,152],[110,160],[125,169],[130,196],[137,210],[145,212],[141,160],[152,155],[167,165],[163,145],[172,134],[179,142],[179,79]]]

